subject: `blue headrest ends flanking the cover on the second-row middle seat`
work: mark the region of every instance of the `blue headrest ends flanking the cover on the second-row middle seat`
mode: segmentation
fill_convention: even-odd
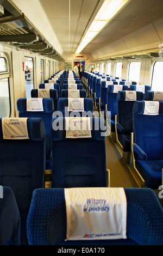
[[[105,140],[105,121],[103,118],[90,117],[91,123],[91,138],[87,139],[98,139]],[[53,141],[60,141],[66,138],[66,121],[65,118],[58,117],[52,118],[51,134]],[[80,138],[82,139],[82,138]]]

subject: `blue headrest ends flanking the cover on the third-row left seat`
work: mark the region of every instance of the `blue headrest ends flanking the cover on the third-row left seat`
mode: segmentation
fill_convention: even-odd
[[[54,102],[52,98],[42,99],[43,112],[52,113],[54,112]],[[27,98],[20,98],[17,100],[17,110],[19,113],[27,111]]]

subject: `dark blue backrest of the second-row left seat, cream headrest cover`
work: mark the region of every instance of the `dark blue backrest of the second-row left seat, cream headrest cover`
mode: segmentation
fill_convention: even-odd
[[[11,131],[10,139],[5,135],[7,131],[7,127],[3,126],[5,120],[8,121],[7,127]],[[21,125],[23,124],[25,132],[22,133]],[[12,131],[14,127],[17,127],[17,133]],[[42,118],[0,119],[0,184],[11,187],[14,192],[21,215],[21,243],[25,244],[27,242],[26,218],[32,192],[35,188],[44,187],[45,138],[45,125]]]

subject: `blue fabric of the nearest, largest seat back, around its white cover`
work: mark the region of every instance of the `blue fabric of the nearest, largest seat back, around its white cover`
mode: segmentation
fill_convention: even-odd
[[[35,190],[27,222],[29,245],[162,245],[163,211],[154,191],[150,188],[124,188],[124,192],[127,200],[127,239],[65,241],[67,215],[64,188]]]

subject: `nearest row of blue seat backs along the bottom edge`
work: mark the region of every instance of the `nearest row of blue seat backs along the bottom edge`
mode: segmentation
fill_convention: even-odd
[[[2,189],[3,199],[0,199],[0,230],[3,235],[0,236],[0,244],[21,245],[21,219],[14,193],[10,187],[2,186]],[[86,191],[90,193],[96,193],[96,190],[97,188],[86,188]],[[103,190],[104,188],[98,189],[98,192],[103,192]],[[118,188],[115,191],[117,190]],[[106,188],[105,192],[110,194],[115,191],[114,188],[113,190],[112,188]],[[72,227],[69,227],[67,224],[69,211],[67,210],[65,194],[67,192],[65,189],[36,188],[33,191],[27,216],[26,233],[28,245],[82,245],[84,247],[100,246],[102,248],[105,245],[163,245],[163,209],[155,192],[151,188],[124,188],[123,192],[127,203],[126,222],[122,225],[124,237],[117,239],[116,236],[120,233],[110,233],[111,230],[108,229],[109,218],[105,225],[103,225],[100,234],[98,232],[93,234],[89,232],[92,230],[91,228],[96,230],[96,227],[103,223],[104,214],[103,217],[99,216],[96,223],[89,221],[89,225],[85,226],[85,219],[88,219],[89,214],[85,211],[86,216],[80,220],[81,216],[78,217],[73,212],[72,215],[78,217],[78,221]],[[80,188],[80,193],[85,194],[85,188]],[[118,213],[120,214],[120,202]],[[95,212],[93,214],[95,215]],[[96,212],[96,214],[97,217],[102,215],[100,212]],[[118,219],[118,222],[120,220]],[[74,227],[75,231],[76,229],[78,230],[79,221],[82,222],[84,228],[86,227],[86,231],[89,231],[84,233],[83,237],[83,229],[78,233],[71,231],[73,239],[71,237],[69,239],[67,232]],[[113,225],[113,220],[111,220],[111,224]],[[121,228],[118,230],[120,232]],[[76,235],[82,237],[82,239],[76,239]],[[111,237],[111,235],[115,237]]]

